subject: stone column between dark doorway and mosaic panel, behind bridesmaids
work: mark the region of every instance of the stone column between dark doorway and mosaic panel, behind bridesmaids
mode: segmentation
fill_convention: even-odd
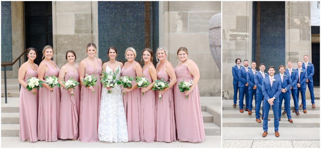
[[[98,49],[97,2],[52,2],[54,61],[65,63],[68,50],[76,53],[79,63],[86,58],[86,45],[95,43]],[[98,53],[97,53],[98,57]]]

